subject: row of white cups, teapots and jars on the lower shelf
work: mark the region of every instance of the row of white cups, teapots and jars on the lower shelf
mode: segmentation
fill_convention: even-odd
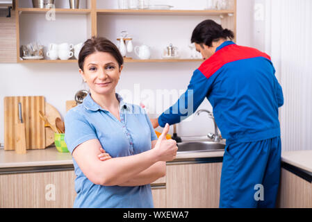
[[[117,48],[120,54],[124,57],[125,62],[186,62],[194,60],[202,60],[202,55],[197,52],[195,44],[188,44],[188,51],[184,49],[184,56],[181,57],[181,51],[178,47],[173,44],[169,46],[164,46],[163,51],[158,56],[152,56],[151,48],[153,46],[148,46],[147,44],[141,44],[133,46],[133,39],[129,36],[127,31],[122,31],[120,37],[117,38]],[[79,59],[79,53],[83,47],[83,42],[79,44],[69,44],[67,42],[62,44],[51,43],[47,46],[47,53],[44,56],[44,46],[39,42],[31,42],[30,44],[22,45],[20,47],[19,55],[20,60],[45,60],[49,62],[57,62],[57,60],[76,60]],[[129,57],[129,53],[136,56],[135,59]],[[186,58],[186,54],[189,54]],[[153,58],[154,57],[154,58]],[[155,58],[156,57],[156,58]],[[49,60],[47,60],[49,58]]]

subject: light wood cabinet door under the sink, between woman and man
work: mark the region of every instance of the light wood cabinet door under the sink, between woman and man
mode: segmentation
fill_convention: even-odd
[[[167,207],[219,207],[222,163],[167,166]]]

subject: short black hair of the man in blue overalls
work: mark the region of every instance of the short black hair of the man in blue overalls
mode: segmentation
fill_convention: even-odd
[[[211,47],[212,42],[217,42],[221,38],[233,40],[234,33],[227,28],[223,29],[222,26],[215,21],[207,19],[196,26],[192,32],[190,41],[197,44],[206,44],[206,46]]]

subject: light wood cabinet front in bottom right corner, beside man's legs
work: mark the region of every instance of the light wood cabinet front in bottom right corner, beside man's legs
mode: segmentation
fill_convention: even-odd
[[[277,207],[312,208],[312,183],[282,168]]]

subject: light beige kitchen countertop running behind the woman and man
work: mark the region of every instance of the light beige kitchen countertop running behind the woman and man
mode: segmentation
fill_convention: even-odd
[[[223,157],[224,151],[208,151],[197,153],[178,153],[176,160],[190,158]],[[175,160],[175,161],[176,161]],[[282,162],[293,165],[312,173],[312,151],[287,151],[281,153]],[[70,153],[59,153],[55,146],[44,150],[28,150],[26,155],[15,153],[15,151],[4,151],[0,149],[0,168],[13,167],[43,167],[70,165],[72,155]]]

